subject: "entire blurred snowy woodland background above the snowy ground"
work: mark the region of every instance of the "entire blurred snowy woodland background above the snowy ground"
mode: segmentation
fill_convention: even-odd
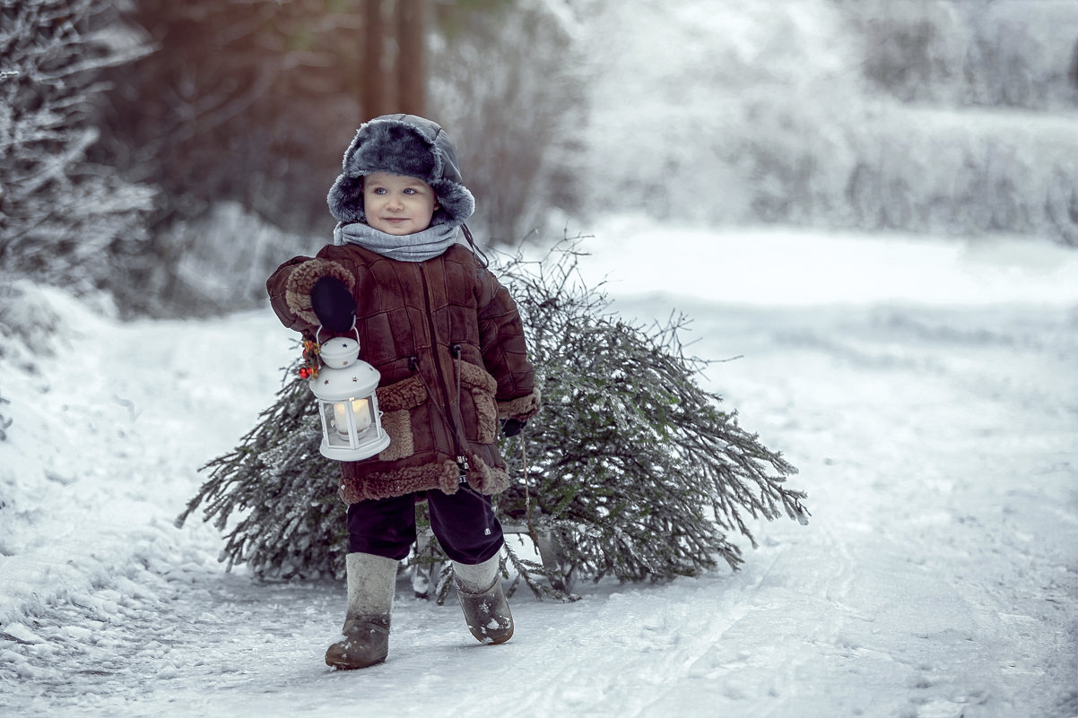
[[[0,277],[128,317],[257,306],[329,236],[355,128],[401,109],[454,136],[502,247],[624,211],[1078,244],[1070,0],[26,0],[0,23]]]

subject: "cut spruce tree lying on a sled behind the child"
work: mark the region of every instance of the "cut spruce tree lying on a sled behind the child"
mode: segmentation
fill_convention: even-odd
[[[543,397],[539,415],[501,444],[514,481],[496,505],[516,580],[568,597],[573,580],[737,568],[733,539],[756,546],[750,520],[805,523],[805,494],[786,486],[797,470],[697,385],[707,362],[685,354],[683,319],[654,328],[622,319],[600,287],[582,281],[577,257],[563,244],[542,261],[496,268],[524,319]],[[230,567],[341,577],[338,468],[318,452],[315,402],[294,370],[239,445],[204,467],[209,478],[178,523],[202,507],[225,531]],[[437,540],[420,541],[412,563],[443,557]]]

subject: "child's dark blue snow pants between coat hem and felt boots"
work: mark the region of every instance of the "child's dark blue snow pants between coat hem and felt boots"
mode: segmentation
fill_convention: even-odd
[[[415,542],[414,494],[348,505],[348,551],[397,558]],[[462,485],[456,494],[427,492],[430,528],[452,561],[481,564],[501,549],[501,524],[490,497]]]

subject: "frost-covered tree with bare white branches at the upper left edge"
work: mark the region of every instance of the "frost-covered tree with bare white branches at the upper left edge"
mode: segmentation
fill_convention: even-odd
[[[109,0],[0,9],[0,279],[116,289],[144,238],[151,191],[87,160],[101,71],[143,52],[114,19]]]

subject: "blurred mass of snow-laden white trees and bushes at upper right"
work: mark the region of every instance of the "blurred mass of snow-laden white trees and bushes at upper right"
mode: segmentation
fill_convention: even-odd
[[[592,212],[1078,245],[1073,0],[595,4]]]

